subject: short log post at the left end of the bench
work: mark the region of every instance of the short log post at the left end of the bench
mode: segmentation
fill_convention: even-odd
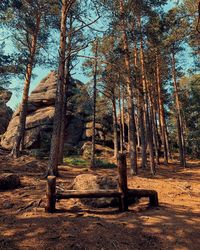
[[[47,177],[47,187],[46,187],[46,198],[47,205],[45,211],[47,213],[53,213],[56,210],[56,177],[48,176]]]

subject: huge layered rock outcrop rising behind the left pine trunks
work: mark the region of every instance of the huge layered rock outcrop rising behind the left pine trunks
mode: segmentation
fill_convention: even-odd
[[[28,101],[25,132],[26,149],[48,149],[53,130],[57,75],[51,72],[32,91]],[[85,122],[91,112],[87,90],[79,81],[71,80],[66,113],[65,143],[77,145],[85,138]],[[15,111],[2,136],[1,146],[11,149],[19,122],[19,110]]]

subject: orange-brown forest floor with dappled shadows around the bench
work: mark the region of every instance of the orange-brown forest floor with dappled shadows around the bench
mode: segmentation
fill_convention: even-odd
[[[186,169],[176,161],[161,164],[155,177],[148,170],[129,176],[130,188],[156,190],[160,206],[141,199],[125,213],[88,209],[73,199],[57,203],[57,213],[45,213],[46,165],[28,156],[0,156],[0,172],[17,173],[22,181],[20,188],[0,192],[0,249],[200,249],[200,161],[189,161]],[[58,178],[62,189],[81,173],[117,174],[66,168]]]

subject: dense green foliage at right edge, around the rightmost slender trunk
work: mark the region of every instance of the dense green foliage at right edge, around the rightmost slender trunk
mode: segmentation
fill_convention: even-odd
[[[200,75],[180,79],[179,91],[181,112],[183,116],[187,154],[200,158]],[[170,141],[173,152],[178,152],[176,111],[171,109]]]

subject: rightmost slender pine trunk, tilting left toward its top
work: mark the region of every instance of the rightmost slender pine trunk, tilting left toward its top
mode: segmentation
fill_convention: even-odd
[[[172,78],[174,83],[174,95],[175,95],[175,105],[176,105],[176,119],[177,119],[177,132],[178,132],[178,144],[179,144],[179,157],[180,157],[180,164],[183,167],[186,167],[186,156],[185,156],[185,140],[183,134],[183,122],[182,122],[182,115],[181,115],[181,108],[180,108],[180,101],[179,101],[179,89],[177,84],[176,78],[176,60],[175,60],[175,52],[174,48],[172,48]]]

